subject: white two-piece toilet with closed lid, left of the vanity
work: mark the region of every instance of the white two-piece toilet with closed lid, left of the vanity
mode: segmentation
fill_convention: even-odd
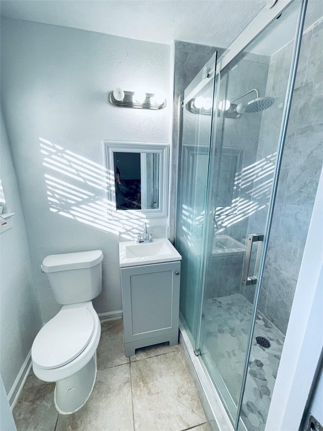
[[[88,400],[96,378],[96,349],[101,326],[92,299],[102,291],[100,250],[44,258],[56,301],[63,307],[38,332],[31,349],[35,375],[55,381],[55,405],[71,414]]]

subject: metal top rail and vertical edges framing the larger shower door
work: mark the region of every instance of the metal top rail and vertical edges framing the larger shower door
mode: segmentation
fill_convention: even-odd
[[[245,47],[249,45],[249,43],[251,43],[268,25],[270,25],[291,3],[293,3],[293,1],[294,0],[289,0],[287,2],[284,2],[282,0],[279,0],[274,8],[270,10],[265,10],[265,8],[262,9],[262,11],[260,11],[260,13],[251,21],[251,23],[245,28],[245,30],[243,30],[243,32],[237,37],[237,39],[235,39],[235,41],[228,49],[229,51],[228,54],[224,54],[219,59],[215,69],[216,71],[217,70],[218,71],[216,72],[216,88],[214,91],[214,98],[213,98],[214,106],[217,106],[217,99],[218,99],[217,96],[220,91],[221,71],[223,71],[223,69],[226,68],[229,65],[229,63],[234,61],[236,56],[240,54],[245,49]],[[283,151],[284,151],[284,143],[285,143],[288,120],[289,120],[289,115],[291,110],[291,101],[292,101],[292,95],[293,95],[294,84],[296,79],[296,72],[297,72],[297,65],[298,65],[298,59],[299,59],[299,53],[300,53],[300,45],[302,40],[302,32],[303,32],[305,15],[306,15],[307,1],[308,0],[301,0],[302,4],[299,10],[298,20],[296,24],[293,55],[291,60],[291,69],[290,69],[290,75],[289,75],[288,84],[287,84],[283,118],[282,118],[281,130],[280,130],[280,136],[279,136],[279,146],[278,146],[278,154],[276,159],[276,167],[275,167],[274,176],[273,176],[273,185],[272,185],[271,197],[269,201],[266,227],[265,227],[265,232],[263,237],[262,253],[259,261],[259,270],[258,270],[258,277],[257,277],[259,282],[257,283],[257,288],[254,296],[253,312],[252,312],[251,326],[250,326],[251,331],[249,333],[249,338],[248,338],[246,362],[244,366],[240,398],[237,405],[236,421],[234,423],[235,429],[238,429],[239,420],[240,420],[241,406],[242,406],[247,372],[248,372],[248,358],[250,357],[251,347],[252,347],[252,337],[253,337],[257,307],[258,307],[259,296],[260,296],[261,279],[263,274],[266,251],[268,247],[268,239],[271,231],[272,218],[274,213],[274,204],[276,200],[277,186],[278,186],[281,162],[282,162]],[[191,94],[189,94],[189,97],[191,97]],[[216,111],[217,110],[215,109],[213,110],[213,118],[211,122],[211,126],[212,126],[211,138],[210,138],[211,144],[212,142],[216,142],[216,139],[217,139],[217,135],[216,135],[217,122],[223,119],[223,117],[220,117],[219,120],[217,120],[217,115],[214,115],[214,112]],[[209,173],[211,172],[211,169],[212,169],[211,160],[214,160],[214,153],[216,151],[215,147],[216,147],[215,145],[211,145],[209,170],[208,170]],[[210,218],[212,217],[213,208],[210,205],[210,199],[207,198],[206,201],[207,202],[205,206],[205,219],[208,218],[208,220],[210,220]],[[202,249],[202,257],[201,257],[202,265],[201,265],[201,276],[200,276],[201,286],[200,286],[200,296],[199,296],[199,305],[198,305],[199,308],[198,308],[198,316],[197,316],[197,319],[198,319],[197,334],[196,334],[196,343],[195,343],[195,349],[194,349],[196,354],[199,354],[200,352],[200,343],[201,343],[204,285],[205,285],[205,274],[207,269],[206,250],[209,242],[209,239],[207,238],[207,230],[208,230],[208,223],[204,223],[204,228],[203,228],[204,247]]]

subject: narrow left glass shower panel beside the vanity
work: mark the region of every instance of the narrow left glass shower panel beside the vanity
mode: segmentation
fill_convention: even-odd
[[[195,346],[216,54],[182,94],[176,248],[181,262],[181,321]]]

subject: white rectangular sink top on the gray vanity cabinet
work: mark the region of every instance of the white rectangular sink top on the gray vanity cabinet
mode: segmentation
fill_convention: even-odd
[[[136,244],[134,241],[119,243],[120,267],[173,262],[182,257],[167,238],[157,238],[152,243]]]

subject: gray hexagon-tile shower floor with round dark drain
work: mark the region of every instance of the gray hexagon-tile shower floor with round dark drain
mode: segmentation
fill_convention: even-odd
[[[205,347],[214,374],[222,376],[236,403],[240,396],[251,312],[251,303],[240,294],[207,300]],[[265,337],[271,346],[260,347],[256,337]],[[284,334],[258,312],[241,411],[248,431],[264,430],[284,341]]]

